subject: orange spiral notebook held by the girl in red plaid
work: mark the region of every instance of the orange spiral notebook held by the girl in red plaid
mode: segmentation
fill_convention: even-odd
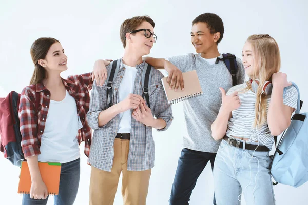
[[[38,162],[42,179],[47,186],[48,194],[59,194],[61,163]],[[22,162],[18,194],[30,194],[31,177],[27,161]]]

